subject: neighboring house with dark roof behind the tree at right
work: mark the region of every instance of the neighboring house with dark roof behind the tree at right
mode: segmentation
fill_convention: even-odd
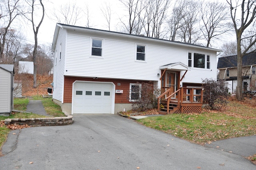
[[[243,91],[256,90],[256,52],[246,54],[242,59]],[[237,55],[221,57],[218,60],[218,79],[228,82],[229,92],[236,93],[237,86]]]

